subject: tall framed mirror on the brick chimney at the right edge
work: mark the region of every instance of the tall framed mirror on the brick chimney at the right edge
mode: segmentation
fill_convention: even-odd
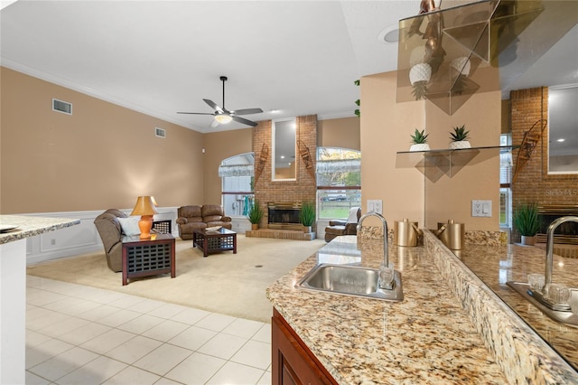
[[[548,89],[548,174],[578,174],[578,84]]]

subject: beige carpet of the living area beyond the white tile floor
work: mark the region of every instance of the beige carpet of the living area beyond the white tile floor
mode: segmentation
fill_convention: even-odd
[[[207,258],[192,248],[191,240],[177,238],[174,278],[137,278],[122,286],[122,273],[107,268],[104,251],[31,265],[27,274],[268,323],[272,307],[266,288],[325,242],[246,238],[243,234],[237,238],[237,254],[223,251]]]

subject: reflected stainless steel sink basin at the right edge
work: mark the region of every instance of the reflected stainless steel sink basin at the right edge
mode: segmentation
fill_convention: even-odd
[[[569,305],[553,304],[547,298],[542,296],[539,292],[533,292],[530,285],[525,282],[507,282],[508,286],[512,287],[527,301],[535,305],[542,313],[549,316],[553,320],[567,324],[569,326],[578,327],[578,315],[572,313]],[[575,301],[578,298],[578,288],[570,288],[570,301]]]

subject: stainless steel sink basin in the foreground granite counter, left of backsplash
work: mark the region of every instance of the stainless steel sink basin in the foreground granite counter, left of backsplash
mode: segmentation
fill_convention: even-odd
[[[350,265],[321,264],[307,273],[295,287],[345,296],[362,296],[385,301],[403,301],[401,274],[396,271],[391,290],[378,286],[379,271]]]

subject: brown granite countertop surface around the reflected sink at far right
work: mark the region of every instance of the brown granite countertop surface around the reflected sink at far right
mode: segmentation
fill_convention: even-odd
[[[518,245],[498,248],[476,246],[455,254],[577,370],[578,328],[555,322],[506,285],[508,281],[527,282],[527,275],[530,273],[544,274],[544,248]],[[554,256],[553,282],[578,287],[577,271],[578,259]],[[578,378],[578,374],[576,376]]]

